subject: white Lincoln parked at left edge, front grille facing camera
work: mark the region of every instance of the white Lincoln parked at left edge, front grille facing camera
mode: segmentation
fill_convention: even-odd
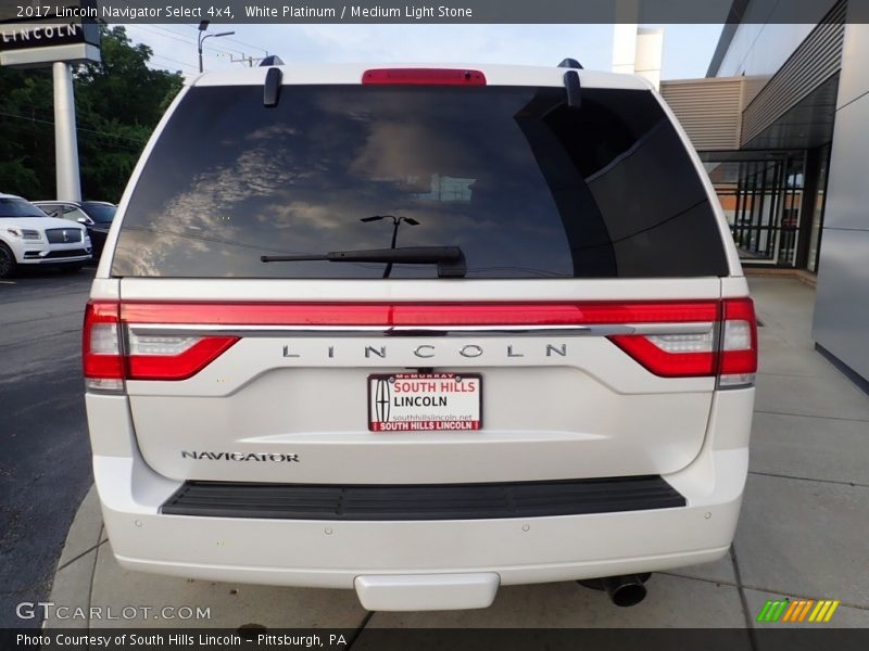
[[[51,265],[77,271],[91,257],[87,229],[49,217],[13,194],[0,194],[0,278],[18,265]]]

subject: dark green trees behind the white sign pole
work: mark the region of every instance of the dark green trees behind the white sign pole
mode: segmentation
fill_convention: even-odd
[[[102,63],[74,74],[81,193],[117,202],[148,137],[184,85],[148,67],[151,49],[102,28]],[[0,192],[54,199],[51,68],[0,68]]]

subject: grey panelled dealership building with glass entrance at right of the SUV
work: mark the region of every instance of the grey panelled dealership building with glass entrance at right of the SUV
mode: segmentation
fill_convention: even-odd
[[[660,92],[745,267],[817,279],[816,345],[866,388],[869,25],[852,2],[818,0],[813,24],[788,24],[786,2],[734,0],[706,78],[662,81]]]

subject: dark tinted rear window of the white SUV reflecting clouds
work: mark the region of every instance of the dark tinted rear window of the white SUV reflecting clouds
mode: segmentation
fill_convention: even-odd
[[[458,246],[469,279],[728,273],[651,92],[583,89],[568,107],[562,88],[394,86],[285,86],[274,108],[260,86],[191,88],[136,184],[112,272],[374,279],[383,264],[260,257],[391,246]],[[395,264],[390,278],[437,269]]]

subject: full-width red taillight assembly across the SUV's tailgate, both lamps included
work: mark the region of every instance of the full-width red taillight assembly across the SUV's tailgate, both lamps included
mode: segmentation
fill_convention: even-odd
[[[185,380],[239,337],[151,334],[148,326],[630,326],[609,340],[665,378],[718,376],[745,386],[757,370],[751,298],[591,303],[146,303],[90,302],[85,316],[85,376],[95,388],[123,380]],[[144,327],[144,328],[142,328]],[[123,341],[123,345],[122,345]]]

